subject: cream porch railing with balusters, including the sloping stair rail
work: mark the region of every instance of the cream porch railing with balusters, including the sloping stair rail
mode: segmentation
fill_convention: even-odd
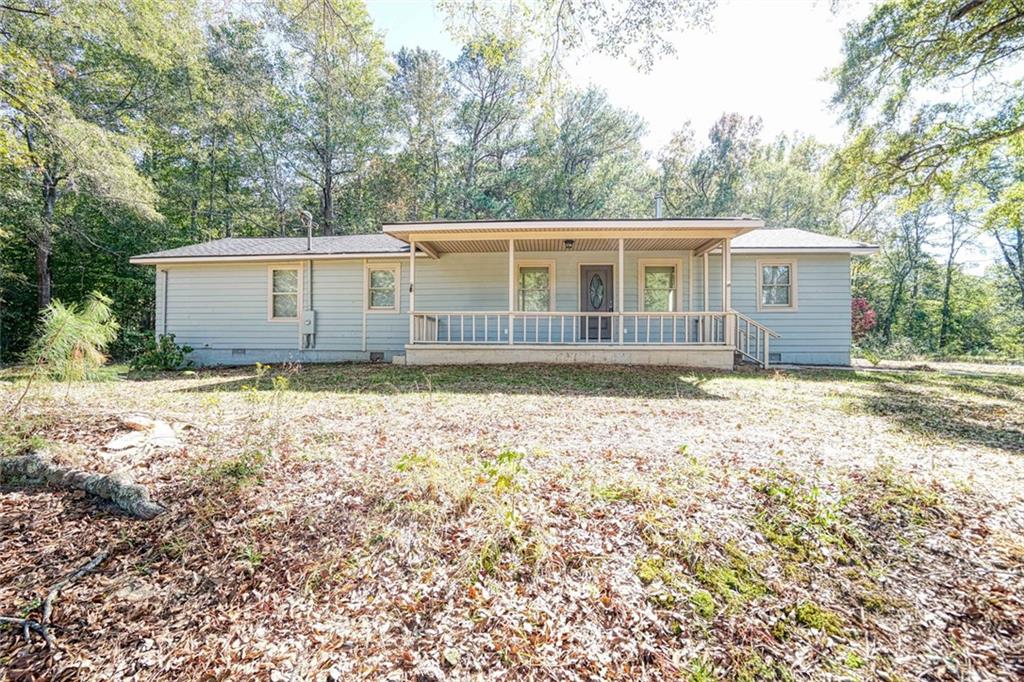
[[[415,312],[412,344],[732,346],[768,367],[770,329],[730,312]]]

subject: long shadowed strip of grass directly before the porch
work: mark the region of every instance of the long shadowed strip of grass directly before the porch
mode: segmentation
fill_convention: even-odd
[[[206,374],[206,373],[203,373]],[[225,381],[182,390],[188,392],[237,391],[253,386],[250,370],[211,371]],[[240,376],[243,375],[243,376]],[[705,384],[715,372],[666,367],[601,367],[514,365],[488,367],[398,367],[371,365],[305,366],[294,372],[282,368],[259,380],[268,389],[274,375],[289,378],[289,389],[341,393],[510,393],[534,395],[586,395],[638,398],[725,399],[709,393]]]

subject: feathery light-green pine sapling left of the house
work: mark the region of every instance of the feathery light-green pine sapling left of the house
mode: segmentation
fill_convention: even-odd
[[[94,378],[118,333],[110,304],[99,292],[84,305],[53,301],[40,316],[39,335],[26,359],[60,381]]]

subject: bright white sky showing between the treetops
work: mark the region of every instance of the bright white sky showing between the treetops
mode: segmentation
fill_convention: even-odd
[[[708,31],[677,34],[677,54],[649,74],[627,59],[569,58],[580,85],[594,83],[612,101],[644,118],[646,145],[656,152],[685,121],[698,134],[726,112],[757,115],[766,136],[801,131],[838,142],[843,128],[828,111],[828,69],[839,65],[843,27],[869,6],[845,3],[833,13],[827,1],[721,0]],[[454,57],[458,46],[444,33],[429,0],[369,0],[370,13],[388,49],[420,46]]]

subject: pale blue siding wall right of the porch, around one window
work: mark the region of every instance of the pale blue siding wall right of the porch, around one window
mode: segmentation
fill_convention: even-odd
[[[775,331],[771,351],[783,363],[849,365],[850,256],[847,254],[772,255],[761,259],[797,264],[797,310],[759,312],[758,256],[732,257],[732,307]]]

